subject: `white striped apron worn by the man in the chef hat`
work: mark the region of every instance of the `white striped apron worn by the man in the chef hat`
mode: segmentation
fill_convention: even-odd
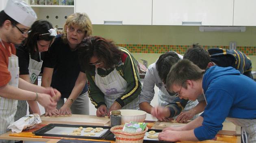
[[[1,44],[2,40],[0,39]],[[4,48],[6,48],[4,46]],[[9,51],[11,53],[10,47]],[[18,57],[16,55],[11,54],[11,57],[9,57],[9,63],[8,63],[8,70],[11,74],[11,80],[9,81],[9,85],[17,87],[19,85],[19,63],[18,63]],[[7,127],[14,122],[14,115],[17,110],[17,100],[13,99],[6,99],[3,97],[0,97],[0,135],[6,133],[9,131]],[[13,143],[14,141],[9,140],[0,140],[0,143]]]

